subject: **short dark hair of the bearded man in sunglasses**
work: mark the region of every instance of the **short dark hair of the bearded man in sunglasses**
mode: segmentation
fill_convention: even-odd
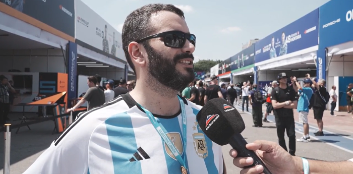
[[[170,4],[149,4],[131,12],[126,18],[122,30],[123,49],[126,60],[131,69],[136,73],[135,66],[131,61],[128,46],[131,42],[150,35],[154,28],[150,25],[150,18],[153,13],[168,11],[184,17],[184,12]],[[142,42],[143,44],[146,41]]]

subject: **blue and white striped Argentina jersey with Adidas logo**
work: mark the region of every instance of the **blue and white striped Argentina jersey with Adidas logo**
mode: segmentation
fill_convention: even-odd
[[[187,147],[183,149],[181,111],[154,115],[167,136],[186,155],[189,174],[223,173],[221,146],[201,131],[201,106],[184,99]],[[130,94],[82,112],[69,128],[24,172],[25,174],[181,173],[181,164]]]

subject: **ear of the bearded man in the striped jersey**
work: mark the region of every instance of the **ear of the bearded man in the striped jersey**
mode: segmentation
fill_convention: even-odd
[[[136,66],[144,66],[146,65],[146,57],[142,54],[142,52],[145,51],[145,48],[137,43],[137,42],[130,42],[128,46],[128,52],[131,57],[131,61],[134,63]]]

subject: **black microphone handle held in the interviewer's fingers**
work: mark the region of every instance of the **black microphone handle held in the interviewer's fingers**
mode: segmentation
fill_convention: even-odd
[[[263,173],[272,174],[271,171],[266,167],[264,162],[256,155],[256,153],[252,150],[246,148],[248,142],[243,138],[242,134],[234,134],[229,139],[229,145],[238,152],[238,157],[252,157],[254,159],[254,163],[249,166],[245,166],[245,168],[250,168],[255,165],[262,165],[264,167]]]

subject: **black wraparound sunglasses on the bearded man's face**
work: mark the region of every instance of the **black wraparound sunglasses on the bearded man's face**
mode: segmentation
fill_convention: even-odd
[[[171,48],[182,48],[188,39],[194,46],[196,46],[196,36],[182,31],[166,31],[158,34],[153,34],[142,39],[137,40],[137,43],[148,39],[163,37],[164,45]]]

